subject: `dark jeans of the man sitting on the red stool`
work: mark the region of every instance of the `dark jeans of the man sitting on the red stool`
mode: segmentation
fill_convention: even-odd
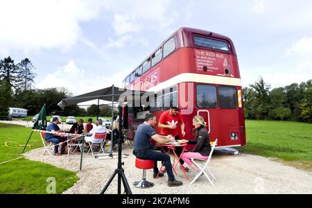
[[[175,176],[172,172],[172,166],[171,166],[171,159],[169,155],[166,155],[164,153],[159,153],[154,150],[133,150],[133,154],[138,157],[139,159],[150,159],[154,160],[154,173],[158,173],[159,170],[157,168],[157,161],[164,162],[164,166],[166,167],[166,171],[168,173],[168,180],[173,181],[175,180]]]

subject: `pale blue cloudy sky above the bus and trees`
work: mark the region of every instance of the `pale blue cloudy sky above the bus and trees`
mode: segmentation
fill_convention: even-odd
[[[181,27],[230,37],[243,87],[312,79],[310,0],[0,0],[0,58],[73,95],[122,80]]]

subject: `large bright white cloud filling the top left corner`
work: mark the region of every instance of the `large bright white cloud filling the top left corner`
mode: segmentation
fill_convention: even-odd
[[[0,53],[12,50],[69,49],[80,35],[80,21],[96,17],[94,1],[0,1]]]

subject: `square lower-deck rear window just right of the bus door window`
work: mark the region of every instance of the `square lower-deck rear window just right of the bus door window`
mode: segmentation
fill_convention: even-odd
[[[220,108],[234,109],[237,107],[236,103],[236,88],[220,86],[219,87],[219,105]]]

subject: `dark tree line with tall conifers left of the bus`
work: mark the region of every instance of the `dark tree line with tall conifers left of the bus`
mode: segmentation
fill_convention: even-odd
[[[28,115],[40,112],[42,105],[46,103],[48,115],[60,116],[96,116],[97,105],[92,105],[87,110],[72,105],[62,110],[58,102],[64,98],[73,96],[67,89],[48,88],[35,89],[34,65],[28,58],[15,63],[10,56],[0,60],[0,119],[8,116],[9,107],[21,107],[28,110]],[[110,116],[110,107],[103,106],[99,110],[100,116]]]

